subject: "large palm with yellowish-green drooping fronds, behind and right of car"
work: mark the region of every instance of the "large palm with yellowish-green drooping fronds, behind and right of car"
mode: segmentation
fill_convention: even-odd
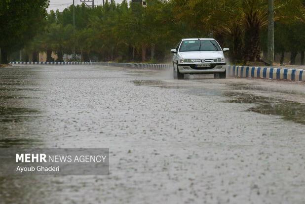
[[[244,53],[244,61],[260,59],[260,32],[268,24],[267,0],[171,0],[178,20],[186,19],[198,29],[231,36],[233,52]],[[305,19],[303,0],[275,0],[274,20]],[[241,39],[243,38],[243,39]],[[244,49],[238,43],[244,41]]]

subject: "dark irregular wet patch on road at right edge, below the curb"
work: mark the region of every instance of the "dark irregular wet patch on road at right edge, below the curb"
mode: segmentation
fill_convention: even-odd
[[[256,96],[238,92],[226,92],[224,96],[233,97],[226,103],[253,103],[254,107],[248,109],[260,114],[281,116],[286,121],[305,124],[305,104],[284,101],[264,96]]]

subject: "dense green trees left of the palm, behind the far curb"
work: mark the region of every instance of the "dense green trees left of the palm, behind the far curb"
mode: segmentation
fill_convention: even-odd
[[[51,11],[45,30],[26,50],[34,54],[47,51],[47,60],[55,51],[58,61],[63,53],[82,54],[83,61],[161,61],[168,47],[181,38],[181,27],[173,16],[171,4],[158,0],[149,1],[147,8],[112,0],[93,9],[77,5],[74,28],[71,5],[63,12]]]

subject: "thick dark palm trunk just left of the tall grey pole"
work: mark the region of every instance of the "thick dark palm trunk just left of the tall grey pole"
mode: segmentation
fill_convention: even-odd
[[[261,59],[261,47],[260,47],[260,26],[249,25],[245,28],[245,50],[244,50],[244,62],[259,61]]]

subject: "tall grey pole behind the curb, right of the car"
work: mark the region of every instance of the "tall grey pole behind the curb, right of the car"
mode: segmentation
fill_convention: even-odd
[[[268,61],[274,62],[274,0],[268,0]]]

